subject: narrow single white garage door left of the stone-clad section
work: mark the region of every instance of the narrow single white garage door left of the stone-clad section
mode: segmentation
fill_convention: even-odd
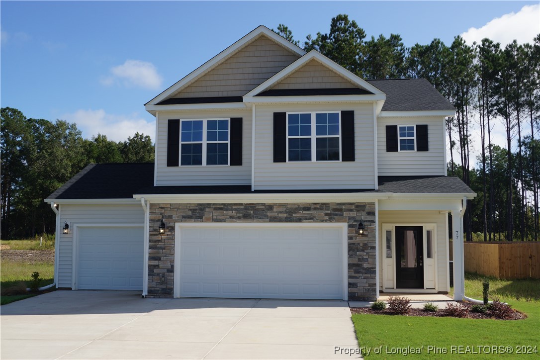
[[[78,289],[142,290],[144,228],[78,228]]]

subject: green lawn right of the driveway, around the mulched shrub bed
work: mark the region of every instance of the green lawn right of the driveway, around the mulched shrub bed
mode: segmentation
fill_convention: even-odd
[[[482,276],[465,276],[465,294],[482,298]],[[530,346],[540,351],[540,280],[497,280],[491,279],[491,294],[513,308],[527,314],[525,320],[475,320],[453,317],[416,317],[389,315],[353,315],[353,323],[361,348],[371,350],[370,359],[404,358],[403,351],[420,348],[421,354],[408,354],[407,358],[538,358],[536,354],[516,354],[518,346]],[[524,299],[528,299],[524,300]],[[510,346],[512,354],[494,354],[491,345]],[[382,348],[380,348],[382,346]],[[422,349],[423,346],[423,349]],[[463,348],[457,348],[462,346]],[[469,348],[467,348],[467,346]],[[409,348],[408,348],[409,347]],[[428,352],[428,347],[432,351]],[[456,348],[452,348],[456,347]],[[375,354],[380,350],[380,354]],[[436,354],[435,348],[446,349],[448,354]],[[454,353],[451,353],[452,350]],[[521,348],[520,348],[521,349]],[[525,350],[529,350],[524,348]],[[476,351],[467,353],[465,351]],[[490,354],[486,354],[488,350]],[[456,353],[457,351],[457,353]],[[394,354],[393,352],[401,352]]]

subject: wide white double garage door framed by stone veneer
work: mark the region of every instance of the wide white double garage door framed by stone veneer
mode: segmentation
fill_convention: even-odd
[[[249,225],[178,225],[175,295],[344,297],[345,225]]]

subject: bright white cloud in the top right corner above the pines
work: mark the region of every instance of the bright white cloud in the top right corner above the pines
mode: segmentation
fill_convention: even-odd
[[[491,20],[480,29],[470,28],[461,36],[469,45],[480,44],[483,38],[490,38],[504,47],[514,39],[518,44],[532,43],[540,32],[540,5],[525,5],[517,13],[510,12]]]

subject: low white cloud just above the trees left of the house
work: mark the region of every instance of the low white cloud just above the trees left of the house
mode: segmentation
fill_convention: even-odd
[[[137,113],[130,115],[107,114],[105,110],[77,110],[74,113],[64,114],[61,119],[69,123],[76,123],[83,137],[91,139],[98,133],[106,135],[113,141],[124,141],[133,137],[136,132],[150,135],[152,141],[156,131],[154,121],[146,121]]]

